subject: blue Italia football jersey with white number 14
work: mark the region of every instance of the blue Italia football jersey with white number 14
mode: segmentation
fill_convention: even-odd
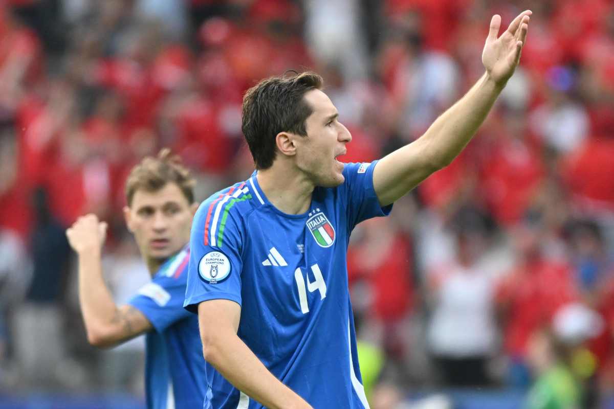
[[[238,336],[314,408],[368,408],[346,253],[356,224],[391,210],[373,189],[375,166],[346,164],[345,182],[314,189],[301,215],[274,207],[254,172],[203,202],[192,226],[185,307],[196,312],[212,299],[241,305]],[[219,373],[207,375],[205,408],[262,408],[236,389],[229,394]]]

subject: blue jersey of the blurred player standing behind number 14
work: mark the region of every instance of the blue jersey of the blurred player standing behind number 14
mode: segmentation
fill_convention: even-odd
[[[198,318],[183,308],[190,251],[184,249],[160,267],[129,304],[154,331],[146,334],[147,408],[200,408],[206,393],[205,361]]]

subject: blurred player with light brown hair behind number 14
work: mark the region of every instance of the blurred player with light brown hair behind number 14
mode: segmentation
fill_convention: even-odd
[[[126,181],[124,216],[152,281],[118,307],[103,280],[107,224],[82,216],[66,231],[79,255],[79,301],[92,345],[105,348],[147,333],[147,408],[199,408],[206,393],[198,319],[183,308],[196,211],[194,181],[168,149],[145,158]]]

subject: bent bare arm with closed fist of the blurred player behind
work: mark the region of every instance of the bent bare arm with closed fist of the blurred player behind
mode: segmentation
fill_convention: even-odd
[[[152,324],[131,305],[117,307],[104,283],[101,251],[107,224],[96,215],[82,216],[66,231],[79,256],[79,304],[87,339],[101,348],[114,346],[152,329]]]

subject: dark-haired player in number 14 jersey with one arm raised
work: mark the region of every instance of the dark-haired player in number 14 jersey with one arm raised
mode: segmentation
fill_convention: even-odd
[[[243,132],[256,171],[201,204],[190,236],[185,307],[198,312],[208,369],[219,371],[207,372],[205,408],[368,408],[349,234],[467,145],[518,65],[530,14],[501,36],[495,15],[483,77],[422,137],[379,161],[336,160],[351,135],[319,75],[268,78],[247,91]],[[235,394],[223,393],[222,375]]]

